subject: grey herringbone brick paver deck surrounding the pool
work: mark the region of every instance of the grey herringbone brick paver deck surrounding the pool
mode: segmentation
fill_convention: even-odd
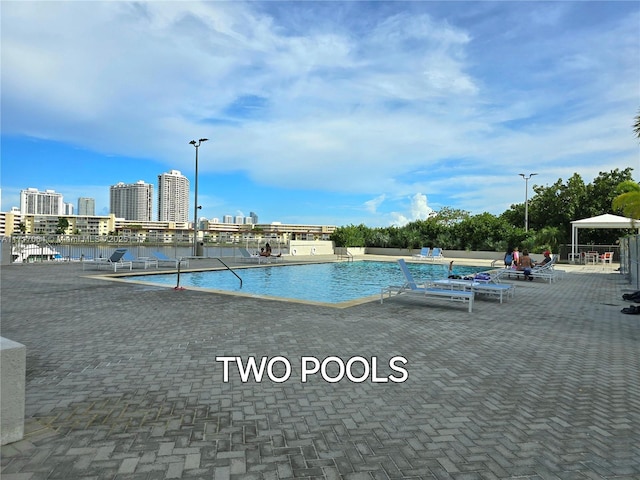
[[[615,264],[559,268],[469,314],[436,298],[336,309],[108,282],[79,263],[3,266],[0,333],[27,347],[27,420],[1,478],[638,479],[640,315],[620,312],[633,289]],[[283,357],[291,376],[242,382],[230,363],[224,382],[220,357],[235,356]],[[329,378],[301,381],[302,357],[329,356],[377,368],[332,383],[329,362]],[[392,357],[406,381],[383,381],[400,376]]]

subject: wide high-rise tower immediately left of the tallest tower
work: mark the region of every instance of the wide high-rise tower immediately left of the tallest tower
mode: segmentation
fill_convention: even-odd
[[[116,218],[148,222],[153,208],[153,185],[140,180],[136,183],[119,182],[110,187],[110,212]]]

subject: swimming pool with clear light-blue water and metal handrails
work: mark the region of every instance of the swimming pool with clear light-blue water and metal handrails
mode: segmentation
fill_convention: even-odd
[[[416,280],[446,277],[448,264],[407,263]],[[455,266],[457,275],[471,275],[486,267]],[[183,272],[180,286],[206,288],[238,294],[295,299],[306,302],[342,304],[379,295],[389,285],[404,284],[396,262],[356,261],[308,265],[271,265],[234,270]],[[136,275],[127,280],[176,286],[176,274]]]

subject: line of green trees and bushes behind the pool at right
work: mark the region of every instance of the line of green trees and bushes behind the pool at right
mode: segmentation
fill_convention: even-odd
[[[546,248],[571,242],[571,222],[596,215],[638,218],[640,186],[631,177],[632,168],[600,172],[593,182],[585,184],[575,173],[566,182],[534,185],[529,199],[529,230],[524,228],[524,203],[514,204],[500,215],[471,215],[464,210],[445,207],[426,220],[415,220],[404,226],[370,228],[347,225],[331,236],[337,247],[441,247],[445,250],[505,251],[509,246],[527,248],[540,253]],[[623,198],[623,195],[627,197]],[[629,196],[630,194],[630,196]],[[622,200],[621,200],[622,198]],[[635,204],[634,204],[635,202]],[[635,205],[636,210],[633,210]],[[580,242],[611,245],[620,236],[633,233],[620,229],[581,229]]]

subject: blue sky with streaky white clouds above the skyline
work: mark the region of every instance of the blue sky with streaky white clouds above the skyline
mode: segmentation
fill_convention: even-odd
[[[638,2],[3,1],[1,208],[157,185],[202,216],[402,225],[634,168]],[[193,205],[193,203],[191,204]],[[155,208],[155,206],[154,206]],[[192,207],[190,207],[192,208]]]

